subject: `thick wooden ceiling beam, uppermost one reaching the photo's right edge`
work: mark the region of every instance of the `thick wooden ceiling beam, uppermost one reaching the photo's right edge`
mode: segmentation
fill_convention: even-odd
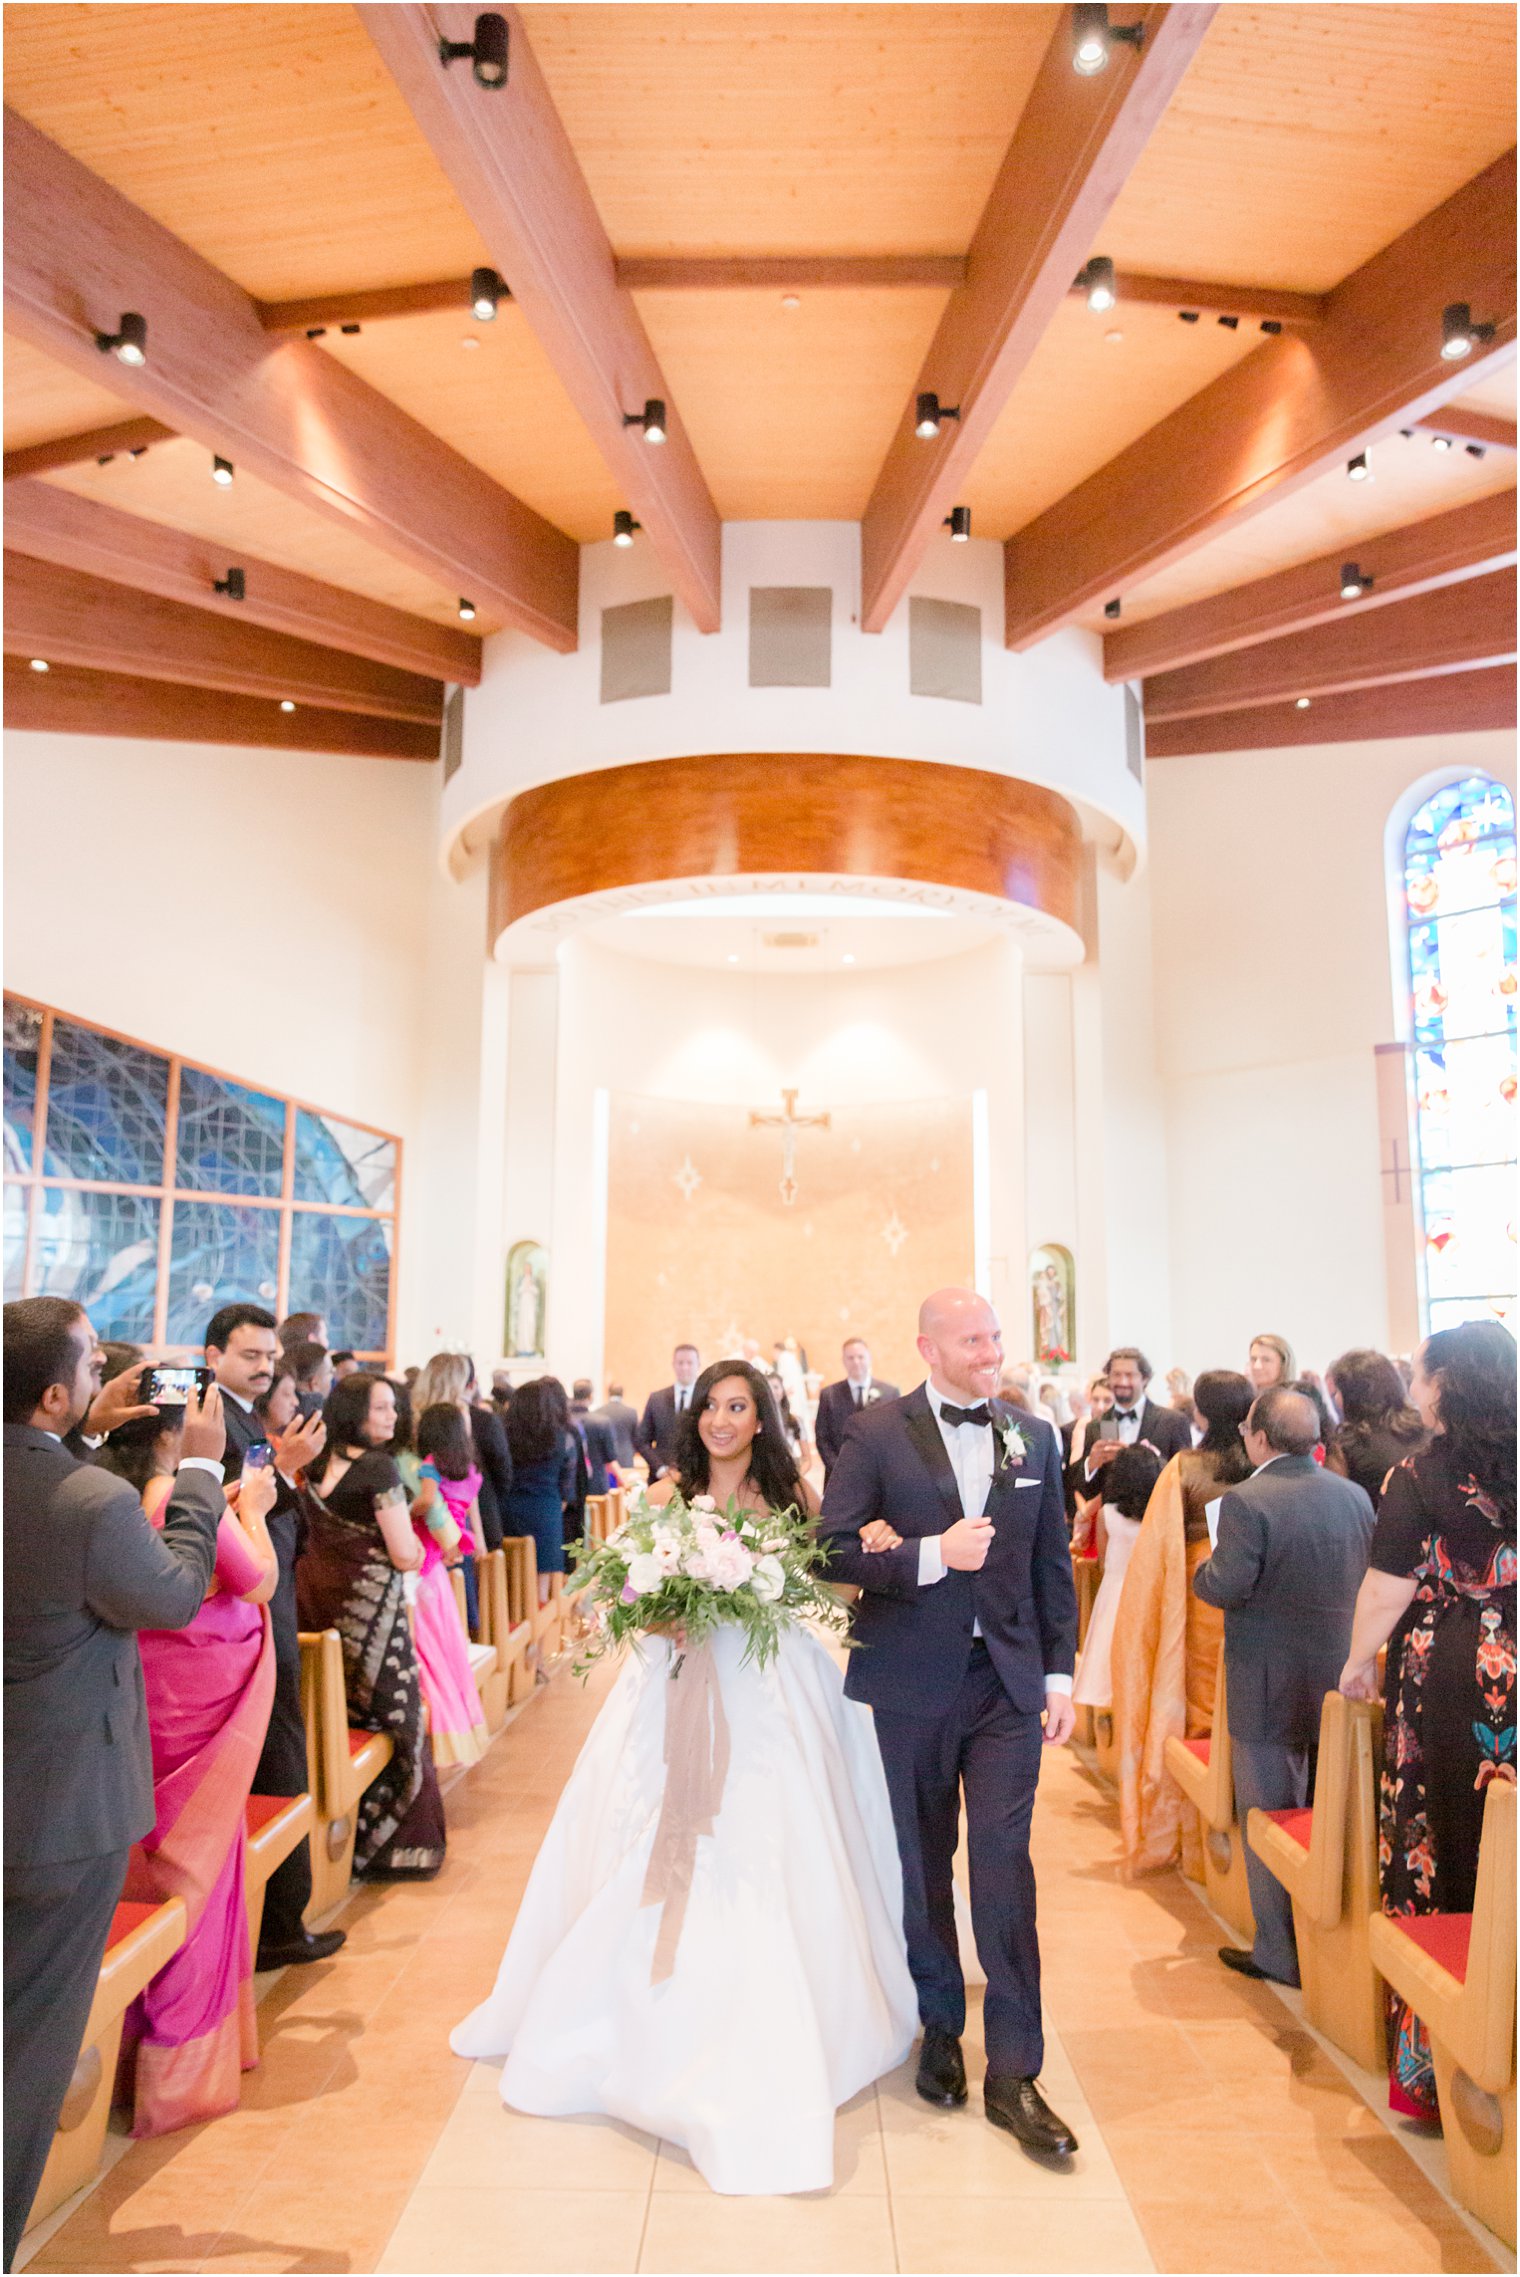
[[[1338,285],[1324,323],[1263,342],[1017,531],[1003,549],[1008,647],[1436,410],[1459,385],[1440,355],[1440,312],[1456,298],[1495,326],[1463,367],[1472,385],[1515,342],[1513,150]]]

